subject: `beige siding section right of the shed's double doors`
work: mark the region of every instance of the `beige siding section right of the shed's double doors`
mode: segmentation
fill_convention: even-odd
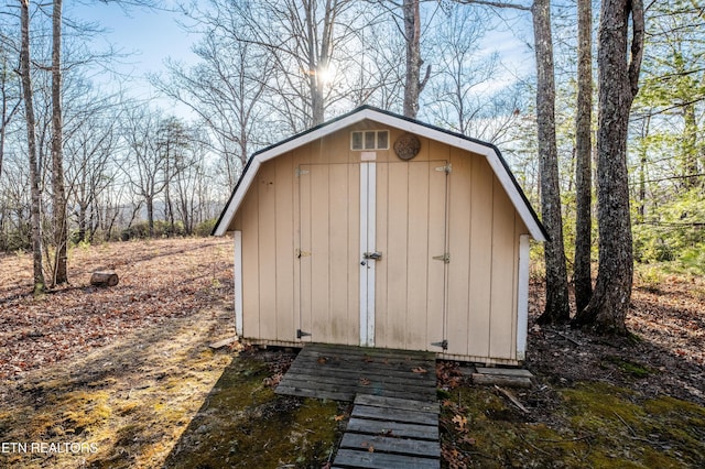
[[[525,228],[484,159],[451,149],[451,163],[446,353],[514,360],[519,234]]]

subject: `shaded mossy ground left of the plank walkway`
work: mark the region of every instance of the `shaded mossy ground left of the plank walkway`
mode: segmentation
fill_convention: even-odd
[[[322,467],[337,441],[338,405],[278,396],[267,367],[236,360],[166,460],[170,468]]]

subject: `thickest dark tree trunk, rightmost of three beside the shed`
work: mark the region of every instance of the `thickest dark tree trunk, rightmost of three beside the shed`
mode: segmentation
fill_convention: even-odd
[[[628,47],[630,31],[632,37]],[[575,321],[604,334],[627,334],[625,319],[633,280],[627,131],[631,103],[639,90],[643,34],[641,0],[603,1],[597,52],[599,271],[590,303],[578,312]]]

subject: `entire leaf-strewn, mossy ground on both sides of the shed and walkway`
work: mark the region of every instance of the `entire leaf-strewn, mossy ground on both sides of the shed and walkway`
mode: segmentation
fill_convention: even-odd
[[[273,393],[295,351],[208,347],[235,334],[229,239],[76,248],[69,276],[33,297],[0,254],[0,467],[328,465],[349,408]],[[438,362],[443,466],[705,467],[705,280],[638,275],[628,326],[530,323],[527,390]]]

